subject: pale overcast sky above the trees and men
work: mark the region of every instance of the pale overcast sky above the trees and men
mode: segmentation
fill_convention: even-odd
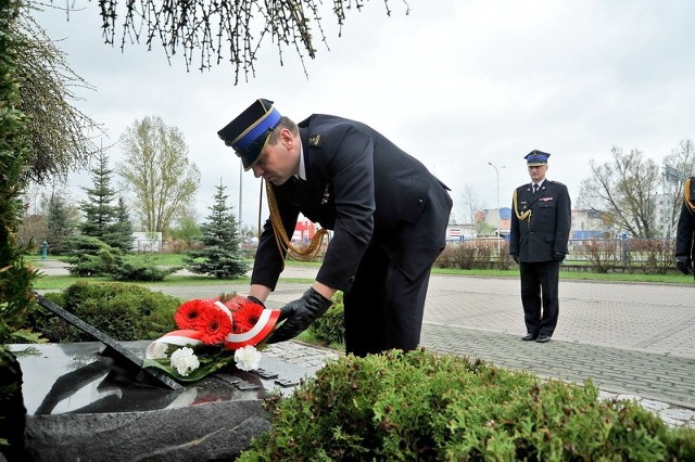
[[[660,164],[695,138],[690,0],[408,0],[408,15],[391,0],[391,16],[371,0],[349,13],[342,37],[325,10],[330,51],[315,30],[308,78],[293,50],[280,66],[266,41],[256,77],[237,86],[228,64],[187,73],[182,57],[169,65],[160,47],[122,53],[104,44],[96,4],[70,22],[59,12],[37,16],[96,88],[75,104],[108,129],[104,144],[146,116],[178,127],[202,174],[201,219],[220,179],[238,215],[239,161],[216,132],[257,98],[296,121],[326,113],[371,125],[452,189],[457,217],[465,185],[482,207],[496,207],[488,163],[509,206],[514,188],[529,181],[523,156],[549,152],[547,178],[566,183],[577,203],[590,161],[609,161],[612,146]],[[122,154],[116,146],[109,155],[113,167]],[[76,194],[91,187],[86,175],[71,181]],[[242,221],[255,226],[260,180],[244,172],[242,187]]]

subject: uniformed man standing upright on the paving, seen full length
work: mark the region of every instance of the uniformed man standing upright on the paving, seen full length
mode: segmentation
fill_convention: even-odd
[[[531,182],[514,191],[509,255],[519,264],[523,341],[549,342],[557,325],[560,262],[567,255],[571,201],[567,187],[545,179],[542,151],[526,155]]]

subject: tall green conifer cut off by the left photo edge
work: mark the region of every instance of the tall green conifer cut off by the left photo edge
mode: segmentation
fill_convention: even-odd
[[[31,307],[31,285],[37,277],[16,243],[22,220],[22,194],[30,155],[28,118],[18,108],[16,78],[18,38],[12,26],[21,3],[0,2],[0,452],[7,460],[26,460],[24,428],[26,408],[22,397],[22,368],[5,344],[36,341],[22,328]]]

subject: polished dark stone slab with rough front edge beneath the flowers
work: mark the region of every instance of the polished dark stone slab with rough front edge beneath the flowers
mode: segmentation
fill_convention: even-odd
[[[142,356],[149,342],[122,345]],[[267,392],[292,393],[309,372],[263,356],[261,369],[219,372],[172,390],[136,380],[98,342],[11,345],[36,461],[233,460],[269,429]],[[22,352],[27,347],[35,354]]]

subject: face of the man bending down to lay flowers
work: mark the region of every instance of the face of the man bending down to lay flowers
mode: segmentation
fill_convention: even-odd
[[[295,145],[291,132],[282,129],[277,143],[266,144],[261,152],[258,162],[251,167],[253,175],[276,185],[285,183],[299,170],[299,156],[293,153]]]

